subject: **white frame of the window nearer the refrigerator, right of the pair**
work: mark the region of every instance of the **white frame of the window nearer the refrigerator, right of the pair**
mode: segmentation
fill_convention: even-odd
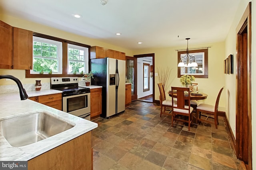
[[[79,45],[74,45],[74,44],[68,44],[68,48],[73,48],[73,49],[79,49],[84,51],[84,66],[86,67],[83,72],[88,73],[89,72],[89,63],[88,63],[88,54],[89,54],[89,49],[87,47],[82,47]],[[68,49],[67,49],[67,54],[68,54]],[[67,56],[68,58],[68,56]],[[77,62],[76,60],[69,60],[67,61],[67,66],[68,66],[68,74],[74,74],[73,72],[69,72],[69,61]],[[80,61],[79,61],[80,62]],[[80,74],[80,72],[77,72],[76,74]]]

